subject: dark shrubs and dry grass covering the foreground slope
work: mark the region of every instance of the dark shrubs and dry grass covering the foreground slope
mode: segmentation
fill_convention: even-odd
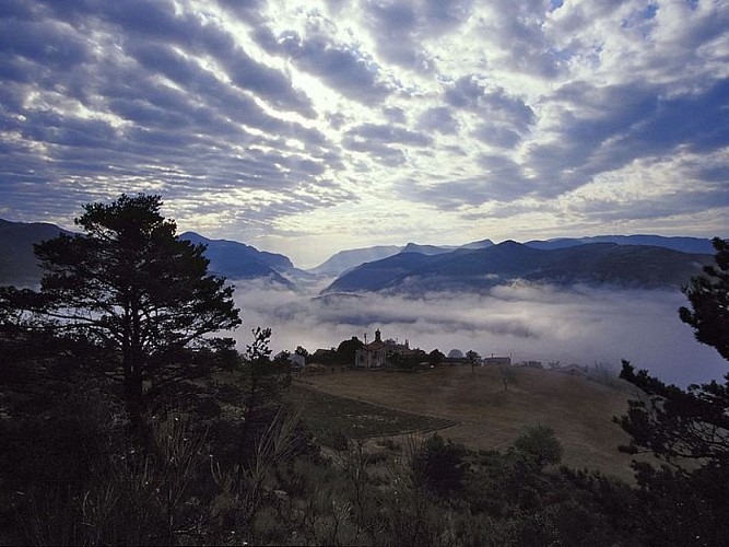
[[[505,452],[472,452],[437,435],[384,438],[373,447],[334,439],[322,452],[287,388],[250,411],[242,368],[146,416],[150,434],[140,442],[113,385],[44,372],[35,396],[35,381],[16,376],[12,415],[0,422],[2,543],[633,542],[620,521],[634,492],[555,468],[560,445],[548,429],[527,431]]]

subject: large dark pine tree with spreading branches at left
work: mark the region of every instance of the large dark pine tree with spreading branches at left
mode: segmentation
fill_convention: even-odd
[[[82,234],[35,245],[40,291],[2,293],[36,327],[104,349],[134,419],[146,391],[186,377],[188,350],[232,347],[208,335],[240,324],[233,288],[208,274],[204,246],[180,241],[161,207],[160,196],[143,194],[84,206],[74,221]]]

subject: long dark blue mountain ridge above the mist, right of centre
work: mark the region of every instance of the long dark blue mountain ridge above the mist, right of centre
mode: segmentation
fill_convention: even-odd
[[[710,261],[710,255],[657,246],[592,243],[539,249],[507,241],[432,256],[401,253],[354,268],[326,291],[472,291],[517,279],[553,284],[678,288]]]

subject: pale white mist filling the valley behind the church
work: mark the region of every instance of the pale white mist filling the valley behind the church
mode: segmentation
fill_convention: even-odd
[[[685,386],[720,380],[729,363],[695,341],[679,319],[679,291],[571,288],[514,283],[485,294],[433,292],[422,298],[385,294],[318,296],[266,282],[238,281],[235,300],[244,351],[257,326],[273,330],[274,353],[303,346],[337,347],[353,336],[408,339],[411,347],[444,353],[457,348],[481,356],[510,354],[514,362],[550,361],[620,369],[622,359],[665,382]]]

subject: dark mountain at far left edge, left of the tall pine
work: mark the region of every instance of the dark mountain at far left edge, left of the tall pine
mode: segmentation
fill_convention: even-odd
[[[34,287],[43,272],[33,253],[33,244],[71,233],[46,222],[10,222],[0,219],[0,286]]]

